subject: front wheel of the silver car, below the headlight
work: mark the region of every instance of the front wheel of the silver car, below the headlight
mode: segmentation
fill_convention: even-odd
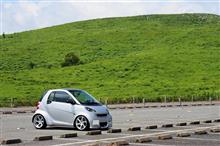
[[[89,129],[89,121],[85,116],[78,116],[75,120],[75,127],[80,130]]]

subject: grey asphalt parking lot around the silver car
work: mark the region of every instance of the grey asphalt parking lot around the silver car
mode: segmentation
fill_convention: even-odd
[[[113,129],[121,129],[118,133],[98,131],[98,135],[87,135],[88,131],[77,131],[70,128],[47,128],[36,130],[31,123],[32,113],[1,114],[1,141],[21,139],[21,143],[13,145],[220,145],[219,105],[175,106],[157,108],[125,108],[110,110],[113,116]],[[210,122],[211,120],[211,122]],[[194,124],[191,122],[195,122]],[[199,123],[197,123],[199,122]],[[186,123],[184,126],[177,126]],[[191,123],[191,124],[190,124]],[[167,125],[167,127],[166,127]],[[172,125],[172,126],[170,126]],[[157,126],[156,129],[145,129]],[[128,131],[128,129],[135,131]],[[155,127],[154,127],[155,128]],[[217,129],[216,131],[212,131]],[[196,134],[196,131],[205,131]],[[97,131],[94,131],[94,133]],[[60,138],[63,134],[77,133],[77,137]],[[178,137],[179,133],[188,133],[186,137]],[[34,141],[35,137],[51,136],[52,140]],[[162,136],[162,139],[159,138]],[[151,142],[137,143],[139,138],[150,139]],[[113,143],[116,142],[116,143]],[[126,143],[127,142],[127,143]]]

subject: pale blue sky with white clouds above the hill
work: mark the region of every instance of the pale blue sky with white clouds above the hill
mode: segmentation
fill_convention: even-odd
[[[69,22],[149,14],[220,15],[220,0],[0,0],[1,32],[14,33]]]

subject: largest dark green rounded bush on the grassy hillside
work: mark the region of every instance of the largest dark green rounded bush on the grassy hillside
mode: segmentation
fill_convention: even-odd
[[[64,66],[72,66],[77,65],[79,63],[79,57],[76,56],[73,52],[66,54],[64,58],[64,62],[61,64],[62,67]]]

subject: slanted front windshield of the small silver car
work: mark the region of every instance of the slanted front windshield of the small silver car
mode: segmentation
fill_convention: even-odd
[[[100,105],[94,97],[82,90],[68,90],[83,105]]]

